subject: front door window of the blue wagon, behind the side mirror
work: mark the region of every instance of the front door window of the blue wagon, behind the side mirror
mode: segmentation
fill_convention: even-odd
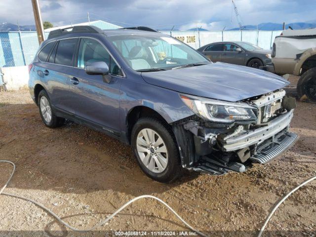
[[[120,68],[101,43],[92,39],[81,39],[78,53],[78,67],[84,68],[87,63],[93,62],[105,62],[109,67],[110,74],[121,76]]]

